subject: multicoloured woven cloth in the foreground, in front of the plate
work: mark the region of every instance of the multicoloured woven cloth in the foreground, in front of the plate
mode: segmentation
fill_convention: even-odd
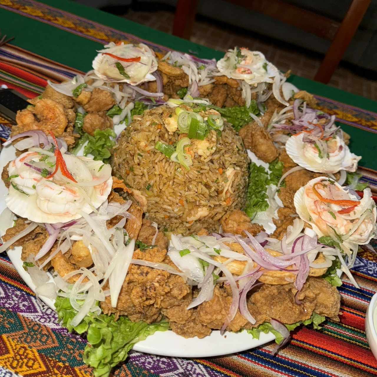
[[[377,248],[377,242],[374,245]],[[353,269],[360,289],[343,277],[340,322],[300,328],[276,356],[274,345],[224,357],[179,359],[130,352],[115,377],[367,377],[377,375],[365,336],[365,311],[375,291],[377,256],[361,250]],[[0,257],[0,376],[86,377],[83,337],[69,334],[38,302],[8,257]],[[214,345],[216,346],[216,345]]]

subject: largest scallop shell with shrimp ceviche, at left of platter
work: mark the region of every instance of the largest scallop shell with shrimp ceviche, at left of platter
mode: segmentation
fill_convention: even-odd
[[[5,202],[12,212],[55,224],[78,219],[106,201],[112,186],[110,165],[62,150],[30,148],[10,162]]]

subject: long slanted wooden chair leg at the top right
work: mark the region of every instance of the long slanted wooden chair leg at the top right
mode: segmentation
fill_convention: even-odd
[[[355,35],[371,0],[353,0],[314,80],[327,84]]]

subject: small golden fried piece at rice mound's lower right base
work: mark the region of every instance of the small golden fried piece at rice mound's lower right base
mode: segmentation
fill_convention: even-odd
[[[262,225],[252,224],[244,211],[234,210],[227,212],[220,220],[223,233],[241,234],[246,236],[247,230],[253,236],[264,230]]]

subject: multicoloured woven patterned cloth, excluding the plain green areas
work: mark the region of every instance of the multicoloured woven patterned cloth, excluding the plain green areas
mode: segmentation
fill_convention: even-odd
[[[27,5],[25,5],[27,3]],[[62,14],[60,10],[41,3],[0,0],[0,8],[10,9],[26,17],[41,18],[57,28],[71,28],[70,32],[88,38],[90,25],[98,24],[80,17]],[[39,7],[39,8],[38,8]],[[48,11],[46,10],[48,8]],[[55,13],[54,13],[55,12]],[[59,18],[60,17],[60,18]],[[80,23],[81,29],[72,21]],[[69,24],[72,22],[72,24]],[[89,23],[86,29],[83,23]],[[95,24],[95,25],[94,25]],[[86,33],[86,35],[84,35]],[[99,32],[98,32],[99,33]],[[101,33],[91,32],[91,38],[135,40],[136,37],[102,26]],[[139,39],[138,39],[139,40]],[[148,43],[144,41],[144,43]],[[152,44],[155,49],[166,49]],[[92,54],[93,55],[93,54]],[[90,69],[90,67],[87,67]],[[39,95],[47,79],[62,81],[80,72],[48,58],[15,46],[0,48],[0,85],[5,84],[32,98]],[[305,87],[301,87],[305,89]],[[377,113],[316,96],[319,108],[337,115],[337,120],[352,129],[358,129],[365,138],[374,138],[377,132]],[[347,127],[345,126],[345,127]],[[0,119],[0,139],[4,141],[10,124]],[[355,138],[355,136],[353,136]],[[361,139],[356,140],[363,143]],[[376,143],[375,143],[376,144]],[[363,181],[377,192],[377,166],[360,169]],[[372,241],[377,250],[377,242]],[[365,336],[365,311],[377,287],[377,254],[362,248],[353,268],[360,285],[355,288],[343,276],[339,288],[342,295],[340,322],[326,321],[321,330],[299,328],[291,342],[272,356],[274,344],[238,354],[207,359],[181,359],[130,352],[126,363],[114,370],[114,376],[132,377],[366,377],[377,375],[377,361]],[[57,315],[26,286],[5,254],[0,256],[0,377],[16,375],[90,376],[91,369],[84,365],[82,351],[84,337],[70,334],[61,328]],[[216,347],[216,345],[213,345]]]

